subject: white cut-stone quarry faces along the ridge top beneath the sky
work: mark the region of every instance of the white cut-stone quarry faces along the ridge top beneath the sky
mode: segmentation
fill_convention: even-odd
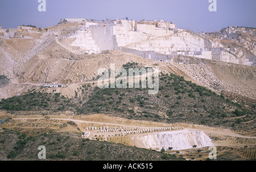
[[[39,33],[31,27],[18,26],[16,29],[0,29],[2,39],[32,39],[18,31]],[[76,26],[60,23],[48,30],[54,32],[57,43],[76,54],[101,53],[105,50],[118,49],[134,53],[143,58],[157,61],[170,61],[173,55],[193,56],[220,60],[241,65],[256,65],[256,43],[240,39],[242,33],[256,35],[256,30],[249,28],[226,28],[216,34],[216,39],[177,29],[175,24],[164,21],[135,22],[134,20],[112,20],[108,22],[82,22]],[[64,34],[69,32],[68,34]],[[245,49],[225,47],[220,40],[238,39]],[[253,41],[253,39],[248,39]]]

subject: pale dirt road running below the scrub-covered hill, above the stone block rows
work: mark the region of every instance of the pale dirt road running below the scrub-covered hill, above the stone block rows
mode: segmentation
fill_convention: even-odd
[[[15,119],[45,119],[45,118],[15,118]],[[53,120],[69,120],[69,121],[76,121],[78,123],[97,123],[97,124],[108,124],[108,125],[119,125],[123,127],[140,127],[140,128],[160,128],[160,127],[141,127],[141,126],[131,126],[131,125],[122,125],[122,124],[114,124],[114,123],[100,123],[97,121],[84,121],[84,120],[75,120],[75,119],[59,119],[59,118],[51,118]],[[224,131],[213,131],[210,129],[201,129],[201,128],[184,128],[183,130],[177,130],[176,132],[189,132],[189,131],[203,131],[206,135],[208,134],[218,134],[218,135],[226,135],[226,136],[234,136],[234,137],[242,137],[247,139],[256,139],[256,137],[250,137],[250,136],[243,136],[237,133],[232,132],[224,132]],[[170,131],[157,131],[157,132],[170,132]],[[154,132],[154,133],[157,133]],[[150,133],[148,133],[150,134]]]

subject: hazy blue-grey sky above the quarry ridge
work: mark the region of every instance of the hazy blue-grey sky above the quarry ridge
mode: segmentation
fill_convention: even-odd
[[[194,32],[220,31],[228,26],[256,27],[255,0],[216,0],[210,12],[209,0],[46,0],[46,12],[39,12],[38,0],[0,0],[0,26],[22,24],[53,26],[64,18],[166,20],[177,28]]]

